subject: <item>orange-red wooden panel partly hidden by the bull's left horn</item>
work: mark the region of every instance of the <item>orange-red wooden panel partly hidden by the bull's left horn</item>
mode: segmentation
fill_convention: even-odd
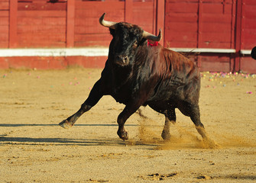
[[[108,21],[125,21],[125,2],[83,2],[76,0],[75,47],[108,47],[112,36],[109,29],[99,24],[105,12]]]

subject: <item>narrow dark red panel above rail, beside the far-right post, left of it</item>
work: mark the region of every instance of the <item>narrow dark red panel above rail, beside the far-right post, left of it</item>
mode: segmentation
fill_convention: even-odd
[[[203,1],[199,47],[234,48],[235,45],[231,44],[234,34],[232,25],[232,2]]]

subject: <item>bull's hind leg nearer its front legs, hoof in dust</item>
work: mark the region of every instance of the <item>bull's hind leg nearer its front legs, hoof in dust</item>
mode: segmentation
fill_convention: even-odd
[[[176,123],[175,108],[170,108],[168,111],[164,113],[164,115],[165,124],[161,136],[164,140],[170,140],[170,124]]]

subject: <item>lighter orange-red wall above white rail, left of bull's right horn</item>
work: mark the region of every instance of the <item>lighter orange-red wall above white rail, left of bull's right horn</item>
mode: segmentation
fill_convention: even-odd
[[[0,47],[108,47],[112,37],[99,24],[104,12],[107,20],[140,24],[154,33],[156,6],[156,0],[1,0]]]

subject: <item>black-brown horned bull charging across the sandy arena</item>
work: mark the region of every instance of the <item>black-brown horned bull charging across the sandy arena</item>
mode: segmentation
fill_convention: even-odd
[[[175,108],[178,108],[191,118],[203,140],[209,141],[200,121],[200,73],[195,63],[160,44],[149,46],[147,40],[160,40],[161,32],[154,36],[137,25],[104,21],[104,17],[105,14],[100,23],[109,27],[113,39],[101,78],[79,111],[63,120],[60,126],[72,127],[103,95],[111,95],[125,104],[125,109],[118,115],[118,136],[122,140],[128,140],[124,127],[128,117],[141,105],[149,105],[166,117],[162,132],[164,140],[170,139],[170,123],[176,122]]]

